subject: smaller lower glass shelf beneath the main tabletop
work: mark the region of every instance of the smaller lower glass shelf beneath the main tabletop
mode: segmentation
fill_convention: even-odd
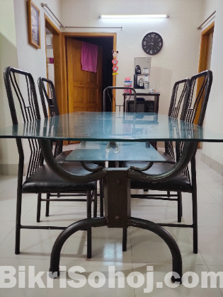
[[[66,161],[152,161],[166,160],[148,142],[81,141]]]

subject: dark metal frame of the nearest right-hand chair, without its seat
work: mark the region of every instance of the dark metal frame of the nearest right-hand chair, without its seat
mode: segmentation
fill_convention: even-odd
[[[195,97],[195,102],[193,103],[193,94],[195,91],[195,84],[198,79],[203,79],[202,86],[198,91],[198,94]],[[198,112],[198,107],[201,104],[200,116],[198,119],[198,126],[202,127],[205,111],[207,108],[207,101],[210,95],[210,89],[212,86],[212,71],[202,71],[200,74],[196,74],[190,78],[190,86],[188,88],[188,95],[186,100],[183,102],[183,110],[181,113],[181,120],[193,124],[195,120],[195,115]],[[197,143],[198,146],[198,143]],[[159,223],[159,226],[167,226],[167,227],[183,227],[183,228],[193,228],[193,252],[195,254],[198,253],[198,206],[197,206],[197,184],[196,184],[196,166],[195,166],[195,154],[197,151],[197,146],[193,153],[193,156],[190,160],[191,166],[191,177],[188,170],[188,165],[183,169],[183,173],[188,177],[188,180],[191,184],[191,194],[192,194],[192,203],[193,203],[193,223],[190,225],[186,224],[176,224],[176,223]],[[183,149],[185,147],[184,141],[176,142],[176,162],[178,163],[183,156]],[[145,184],[145,187],[149,189],[149,184]],[[153,190],[165,191],[167,189],[164,188],[164,185],[157,184],[157,188]],[[171,192],[174,190],[171,190]],[[178,222],[181,222],[182,216],[182,195],[181,192],[178,192],[177,199],[171,198],[176,197],[176,194],[132,194],[132,198],[140,198],[140,199],[162,199],[162,200],[170,200],[170,201],[178,201]]]

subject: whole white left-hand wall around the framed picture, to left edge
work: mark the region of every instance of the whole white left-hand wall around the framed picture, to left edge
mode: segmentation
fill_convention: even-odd
[[[4,87],[3,71],[6,66],[14,66],[18,69],[33,74],[36,86],[39,76],[46,76],[46,54],[45,54],[45,20],[44,13],[57,25],[57,21],[51,18],[42,1],[33,0],[35,6],[40,9],[40,34],[41,49],[28,43],[27,5],[26,0],[1,0],[0,1],[0,128],[11,125],[11,115],[8,108],[8,100]],[[55,15],[60,18],[60,1],[45,0]],[[15,12],[15,13],[14,13]],[[23,91],[23,84],[21,90]],[[38,92],[38,88],[37,88]],[[39,95],[38,95],[39,97]],[[40,104],[41,107],[41,104]],[[26,146],[27,150],[27,146]],[[16,141],[0,141],[0,174],[17,174],[18,153]]]

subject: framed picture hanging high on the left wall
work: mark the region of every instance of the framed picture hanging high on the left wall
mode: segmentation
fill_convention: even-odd
[[[28,42],[40,49],[40,10],[31,0],[27,1],[28,8]]]

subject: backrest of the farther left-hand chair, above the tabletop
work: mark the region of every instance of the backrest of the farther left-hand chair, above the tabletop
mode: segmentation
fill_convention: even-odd
[[[45,118],[47,115],[47,108],[45,105],[45,100],[47,100],[47,104],[50,110],[50,117],[55,117],[55,115],[59,115],[59,109],[57,105],[57,97],[55,93],[55,86],[52,81],[48,78],[39,77],[38,78],[38,86],[40,91],[40,98],[42,103],[42,110]],[[45,88],[47,87],[47,89]],[[49,94],[49,95],[48,95]]]

